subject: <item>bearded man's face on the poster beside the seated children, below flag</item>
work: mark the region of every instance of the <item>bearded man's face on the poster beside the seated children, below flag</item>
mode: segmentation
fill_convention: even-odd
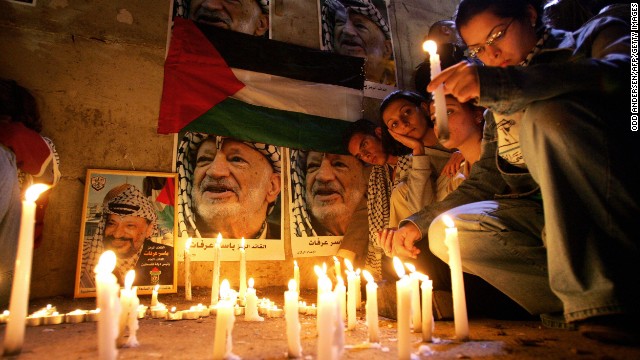
[[[309,152],[305,192],[311,215],[333,235],[344,235],[366,190],[363,165],[350,155]]]

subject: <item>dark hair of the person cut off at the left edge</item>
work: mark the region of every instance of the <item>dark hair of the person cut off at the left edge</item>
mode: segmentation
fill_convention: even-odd
[[[36,132],[42,131],[36,99],[14,80],[0,79],[0,115],[9,115],[11,121],[21,122]]]

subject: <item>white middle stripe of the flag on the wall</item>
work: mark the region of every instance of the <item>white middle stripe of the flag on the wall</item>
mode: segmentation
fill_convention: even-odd
[[[245,103],[346,121],[362,118],[362,90],[231,70],[245,84],[231,97]]]

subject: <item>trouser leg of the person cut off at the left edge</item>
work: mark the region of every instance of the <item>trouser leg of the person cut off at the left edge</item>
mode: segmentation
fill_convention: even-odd
[[[21,211],[15,156],[0,145],[0,309],[9,303]]]

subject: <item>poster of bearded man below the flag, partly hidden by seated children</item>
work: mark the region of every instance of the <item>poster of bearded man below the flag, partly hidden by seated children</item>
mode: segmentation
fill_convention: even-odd
[[[364,165],[351,155],[294,149],[288,159],[293,257],[335,255],[353,217],[367,216],[356,212],[367,191]]]

